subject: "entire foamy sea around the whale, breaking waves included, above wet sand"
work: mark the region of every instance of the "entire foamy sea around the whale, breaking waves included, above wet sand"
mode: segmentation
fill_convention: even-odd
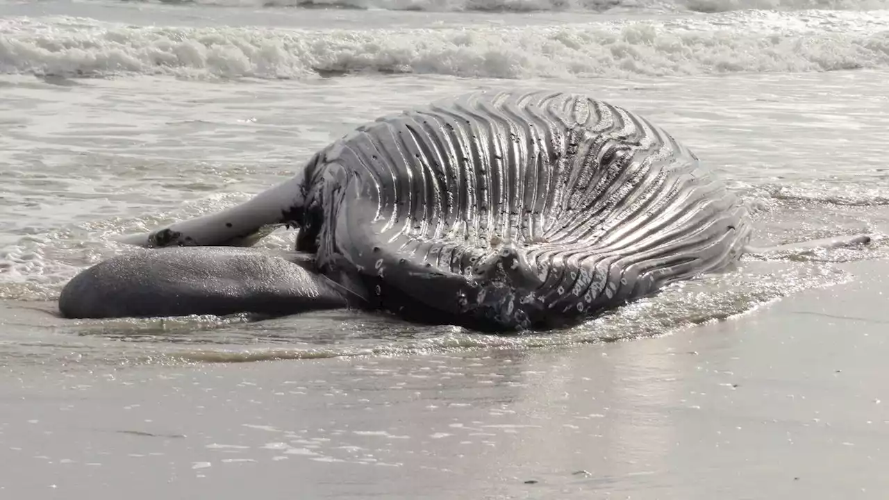
[[[889,11],[878,9],[889,6],[741,4],[0,2],[0,355],[19,370],[530,349],[661,335],[852,280],[838,263],[886,256]],[[117,235],[242,201],[381,114],[504,85],[581,91],[650,117],[741,192],[757,243],[877,242],[750,255],[548,335],[343,311],[259,323],[53,316],[69,278],[126,250]]]

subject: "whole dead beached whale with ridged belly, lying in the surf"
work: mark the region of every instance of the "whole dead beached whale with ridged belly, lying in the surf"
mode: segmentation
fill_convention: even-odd
[[[298,230],[295,252],[243,248],[280,226]],[[361,126],[243,205],[128,238],[171,248],[84,270],[59,305],[68,318],[348,306],[547,329],[722,270],[749,236],[741,200],[644,117],[578,94],[478,92]]]

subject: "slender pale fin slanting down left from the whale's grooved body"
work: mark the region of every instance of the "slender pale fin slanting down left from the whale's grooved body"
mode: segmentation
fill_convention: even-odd
[[[297,176],[241,205],[118,241],[145,247],[253,246],[277,228],[296,224],[302,205],[302,180]]]

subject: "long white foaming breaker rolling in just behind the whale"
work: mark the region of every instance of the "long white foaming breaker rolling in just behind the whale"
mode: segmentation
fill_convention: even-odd
[[[737,14],[730,14],[737,18]],[[885,16],[884,16],[885,17]],[[55,77],[663,77],[889,67],[889,18],[756,12],[551,27],[301,30],[0,20],[0,72]]]

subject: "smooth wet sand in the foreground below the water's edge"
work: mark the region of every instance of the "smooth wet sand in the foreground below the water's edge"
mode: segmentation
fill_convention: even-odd
[[[842,267],[630,342],[34,367],[0,394],[0,497],[883,498],[889,270]]]

